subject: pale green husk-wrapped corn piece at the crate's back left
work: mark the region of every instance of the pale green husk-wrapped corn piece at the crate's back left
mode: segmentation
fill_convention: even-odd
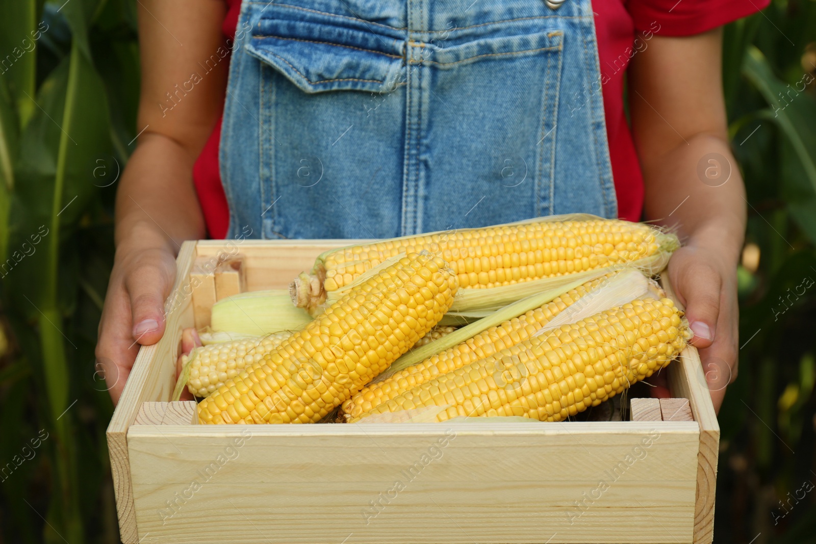
[[[263,336],[300,330],[309,321],[312,316],[292,306],[289,291],[277,289],[249,291],[218,301],[212,307],[210,326],[214,331]]]

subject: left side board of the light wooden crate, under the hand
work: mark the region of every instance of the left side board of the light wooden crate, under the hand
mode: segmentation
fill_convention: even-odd
[[[194,241],[185,241],[181,245],[179,256],[175,259],[175,284],[172,290],[173,293],[180,293],[180,296],[171,297],[165,307],[164,336],[152,346],[140,348],[106,432],[119,518],[119,537],[124,544],[139,542],[133,506],[127,430],[135,422],[144,401],[167,401],[173,393],[175,357],[181,341],[181,329],[193,326],[193,304],[189,294],[184,293],[190,293],[188,276],[190,268],[193,267],[195,249]]]

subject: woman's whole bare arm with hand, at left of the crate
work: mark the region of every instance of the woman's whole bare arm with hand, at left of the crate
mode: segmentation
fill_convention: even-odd
[[[207,69],[193,91],[180,91],[202,61],[228,48],[223,0],[142,0],[139,17],[139,144],[116,201],[116,258],[96,346],[113,402],[119,400],[140,345],[165,327],[164,302],[184,240],[205,237],[193,164],[224,106],[228,63]],[[161,21],[173,21],[172,33]],[[173,95],[172,93],[176,93]]]

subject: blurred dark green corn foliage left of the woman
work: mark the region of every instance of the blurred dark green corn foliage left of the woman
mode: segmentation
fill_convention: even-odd
[[[134,5],[0,1],[2,542],[118,542],[94,347],[135,135]]]

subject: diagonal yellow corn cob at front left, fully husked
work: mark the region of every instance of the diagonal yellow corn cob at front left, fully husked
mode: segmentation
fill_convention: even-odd
[[[399,259],[202,400],[199,421],[319,421],[437,325],[457,288],[441,258]]]

